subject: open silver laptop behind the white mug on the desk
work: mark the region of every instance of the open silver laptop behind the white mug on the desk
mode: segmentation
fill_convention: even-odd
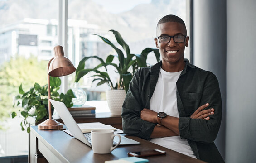
[[[68,111],[68,108],[63,102],[55,101],[52,99],[49,99],[54,106],[54,109],[57,110],[58,115],[63,120],[64,124],[70,131],[70,133],[78,140],[80,140],[82,143],[87,144],[89,147],[92,147],[91,145],[91,133],[83,134],[79,126],[77,125],[77,122],[74,120],[70,112]],[[133,139],[126,138],[122,135],[121,136],[121,142],[119,145],[128,145],[128,144],[140,144],[140,142],[137,142]],[[113,145],[117,144],[116,142],[119,141],[119,138],[116,136],[114,137],[114,143]]]

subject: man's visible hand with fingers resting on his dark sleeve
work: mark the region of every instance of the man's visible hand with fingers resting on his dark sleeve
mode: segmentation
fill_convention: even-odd
[[[190,116],[190,118],[192,119],[203,119],[203,120],[209,120],[210,117],[209,115],[213,115],[214,114],[214,109],[205,109],[209,104],[206,103],[200,107],[198,107],[198,109]]]

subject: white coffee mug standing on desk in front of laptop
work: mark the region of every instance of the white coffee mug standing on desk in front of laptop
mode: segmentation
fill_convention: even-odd
[[[114,137],[119,137],[119,142],[113,147]],[[106,154],[111,153],[121,142],[121,136],[114,134],[111,129],[97,129],[91,131],[91,142],[93,153]]]

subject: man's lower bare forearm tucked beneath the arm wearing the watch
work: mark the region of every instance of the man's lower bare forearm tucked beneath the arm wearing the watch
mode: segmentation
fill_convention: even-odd
[[[160,138],[160,137],[168,137],[168,136],[178,136],[178,134],[174,133],[172,130],[164,127],[164,126],[155,126],[150,138]]]

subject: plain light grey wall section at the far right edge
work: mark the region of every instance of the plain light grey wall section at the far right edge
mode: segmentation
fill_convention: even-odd
[[[227,0],[226,162],[256,162],[256,0]]]

